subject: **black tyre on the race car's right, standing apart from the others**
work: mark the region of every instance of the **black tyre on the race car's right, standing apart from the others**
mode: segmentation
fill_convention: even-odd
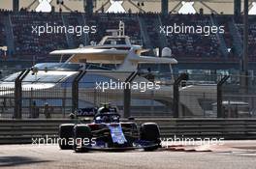
[[[144,151],[154,151],[160,147],[160,131],[155,123],[144,123],[140,129],[141,140],[150,141],[155,146],[144,148]]]

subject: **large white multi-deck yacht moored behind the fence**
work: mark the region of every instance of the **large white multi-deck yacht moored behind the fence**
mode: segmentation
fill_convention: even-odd
[[[92,42],[89,46],[50,52],[51,55],[60,56],[59,63],[35,65],[22,81],[24,106],[29,107],[32,101],[35,101],[37,105],[48,102],[49,105],[55,107],[72,106],[72,81],[80,70],[85,70],[86,73],[80,79],[79,86],[80,107],[98,105],[100,102],[112,102],[122,106],[123,97],[125,97],[123,89],[116,89],[116,87],[113,89],[109,86],[103,92],[102,89],[97,88],[97,84],[124,82],[131,77],[133,72],[137,72],[137,74],[134,73],[136,75],[133,82],[157,84],[156,88],[150,87],[142,90],[139,86],[138,89],[132,89],[131,105],[133,108],[146,112],[149,110],[148,107],[153,107],[153,111],[157,112],[157,108],[154,107],[171,107],[173,104],[172,83],[174,82],[172,65],[177,64],[176,59],[172,58],[171,49],[164,48],[161,57],[143,56],[142,54],[148,50],[141,45],[131,44],[129,37],[124,35],[122,22],[118,30],[108,32],[112,35],[104,37],[98,44]],[[63,58],[67,55],[70,57],[63,62]],[[171,73],[164,80],[154,78],[153,72],[146,72],[147,75],[144,75],[138,71],[140,64],[169,64]],[[0,88],[14,88],[14,81],[18,74],[19,72],[16,72],[4,78],[0,83]],[[148,76],[148,74],[151,75]],[[216,99],[215,85],[188,85],[180,87],[179,92],[182,94],[180,95],[180,108],[182,112],[191,116],[202,116],[205,113],[200,100]],[[0,98],[3,98],[13,94],[2,91],[0,95]],[[12,102],[7,101],[5,104],[12,104]]]

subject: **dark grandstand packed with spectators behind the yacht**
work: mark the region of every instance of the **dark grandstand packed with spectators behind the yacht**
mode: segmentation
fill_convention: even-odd
[[[155,3],[153,1],[150,2]],[[172,3],[174,2],[172,1]],[[225,1],[225,3],[230,2],[229,0]],[[212,1],[212,3],[216,2]],[[226,5],[225,3],[224,6]],[[99,3],[97,6],[99,6]],[[107,9],[102,10],[107,11]],[[196,10],[198,11],[199,9]],[[168,46],[172,48],[173,54],[179,63],[207,62],[236,63],[236,65],[239,65],[242,57],[243,36],[243,24],[240,16],[235,18],[233,14],[219,14],[220,12],[214,9],[211,9],[212,14],[177,14],[176,11],[171,12],[170,14],[143,13],[142,11],[141,13],[128,14],[97,12],[87,14],[75,11],[71,13],[35,13],[33,10],[28,12],[23,7],[20,12],[1,10],[0,46],[8,46],[7,60],[10,61],[53,61],[54,58],[48,56],[50,51],[79,47],[80,44],[88,45],[90,42],[99,42],[106,35],[105,31],[107,29],[115,29],[119,20],[122,20],[126,26],[126,35],[131,37],[131,41],[142,44],[145,48],[150,48],[151,53],[153,53],[154,48],[161,49]],[[31,25],[44,25],[47,22],[51,25],[66,26],[96,25],[97,34],[82,34],[81,36],[69,33],[42,34],[40,37],[37,34],[31,34]],[[164,36],[160,33],[160,26],[173,25],[174,22],[184,23],[185,25],[200,25],[202,27],[205,25],[223,25],[225,32],[224,34],[210,34],[209,36],[202,34],[172,34]],[[251,15],[249,16],[248,42],[250,63],[256,62],[255,34],[256,19]],[[3,52],[0,51],[0,54],[3,55]]]

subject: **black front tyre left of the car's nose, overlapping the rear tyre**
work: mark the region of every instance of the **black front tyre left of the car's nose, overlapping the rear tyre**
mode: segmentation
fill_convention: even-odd
[[[87,152],[86,146],[91,143],[91,129],[87,125],[76,125],[74,127],[74,151],[76,153]]]

